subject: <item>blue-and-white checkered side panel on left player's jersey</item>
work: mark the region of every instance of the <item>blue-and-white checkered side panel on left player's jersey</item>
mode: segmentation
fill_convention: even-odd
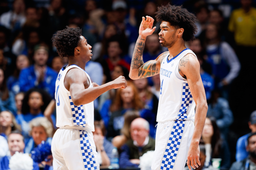
[[[85,127],[85,116],[84,116],[84,111],[83,111],[83,106],[75,106],[74,103],[72,102],[71,96],[69,96],[69,103],[71,107],[71,114],[73,117],[73,125],[74,126],[80,126],[80,127]]]

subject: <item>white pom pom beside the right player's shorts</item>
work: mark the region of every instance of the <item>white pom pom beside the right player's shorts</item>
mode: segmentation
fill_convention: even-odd
[[[154,157],[154,151],[147,151],[141,157],[139,157],[140,170],[151,170],[151,165]]]

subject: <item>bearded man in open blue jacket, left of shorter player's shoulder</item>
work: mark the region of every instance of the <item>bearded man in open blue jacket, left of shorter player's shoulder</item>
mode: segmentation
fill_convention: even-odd
[[[31,88],[41,88],[54,97],[57,73],[46,65],[48,51],[44,46],[36,46],[34,64],[21,70],[19,74],[20,91],[26,92]]]

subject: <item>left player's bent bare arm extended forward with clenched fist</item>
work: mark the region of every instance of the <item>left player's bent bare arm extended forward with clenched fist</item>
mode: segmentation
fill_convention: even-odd
[[[123,76],[119,76],[113,81],[110,81],[101,86],[88,87],[86,74],[77,68],[70,69],[64,79],[64,84],[67,90],[69,90],[74,105],[84,105],[94,101],[102,93],[117,88],[126,88],[127,83]]]

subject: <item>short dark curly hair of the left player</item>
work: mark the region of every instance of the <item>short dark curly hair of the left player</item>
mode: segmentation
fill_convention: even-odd
[[[79,27],[70,28],[68,26],[63,30],[57,31],[51,39],[58,55],[68,58],[73,57],[74,48],[80,44],[81,33],[82,31]]]

